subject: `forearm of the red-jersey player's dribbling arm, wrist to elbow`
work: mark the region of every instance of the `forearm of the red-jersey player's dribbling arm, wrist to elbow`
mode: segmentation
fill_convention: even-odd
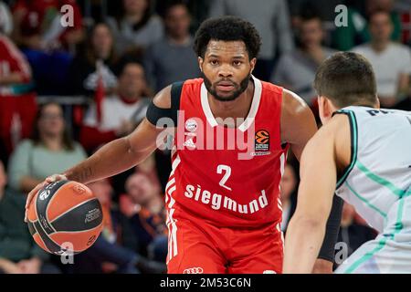
[[[128,170],[142,162],[147,155],[144,151],[132,151],[128,139],[121,138],[104,145],[89,159],[64,174],[70,181],[91,183]]]

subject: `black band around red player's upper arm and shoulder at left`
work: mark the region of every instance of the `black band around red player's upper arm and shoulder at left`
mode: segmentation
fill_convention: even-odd
[[[181,91],[183,90],[184,82],[175,82],[171,88],[171,109],[161,109],[157,107],[153,100],[150,102],[146,118],[154,126],[157,125],[158,120],[162,118],[170,118],[174,122],[174,127],[177,126],[178,110],[180,110]]]

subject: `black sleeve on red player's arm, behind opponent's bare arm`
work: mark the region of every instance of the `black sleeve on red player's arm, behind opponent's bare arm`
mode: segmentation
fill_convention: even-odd
[[[332,200],[332,211],[327,221],[324,241],[322,242],[318,258],[334,262],[335,244],[337,243],[338,232],[340,231],[343,201],[334,194]]]

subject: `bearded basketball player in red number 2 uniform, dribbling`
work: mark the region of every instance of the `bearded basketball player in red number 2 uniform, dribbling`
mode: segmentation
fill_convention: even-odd
[[[279,181],[289,147],[300,159],[317,127],[298,96],[252,76],[260,44],[240,18],[205,21],[195,36],[203,78],[163,89],[131,135],[45,183],[123,172],[159,146],[166,125],[174,135],[165,195],[168,272],[281,273]],[[330,227],[324,254],[333,252],[338,227]],[[317,271],[332,272],[332,255],[324,254]]]

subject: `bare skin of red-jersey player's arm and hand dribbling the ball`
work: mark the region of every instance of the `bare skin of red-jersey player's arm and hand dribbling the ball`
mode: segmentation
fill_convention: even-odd
[[[171,86],[160,91],[153,99],[156,107],[170,109]],[[157,137],[163,128],[157,128],[147,119],[127,137],[111,141],[96,151],[89,159],[80,162],[63,174],[52,175],[37,184],[26,200],[26,209],[39,189],[58,180],[68,179],[79,183],[90,183],[120,172],[144,161],[156,148]],[[159,141],[160,142],[160,141]]]

